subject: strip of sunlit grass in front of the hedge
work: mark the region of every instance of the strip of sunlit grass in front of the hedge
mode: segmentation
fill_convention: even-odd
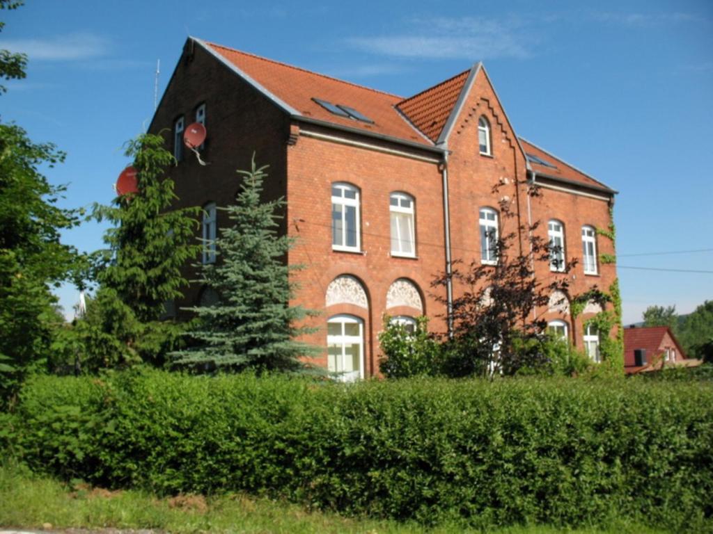
[[[171,533],[461,533],[463,527],[426,529],[414,523],[351,519],[312,513],[294,504],[245,495],[212,498],[156,498],[140,491],[106,491],[78,484],[68,487],[33,476],[12,464],[0,466],[0,528],[151,528]],[[548,527],[503,528],[499,534],[559,533]],[[653,534],[662,532],[621,522],[608,530],[570,533]]]

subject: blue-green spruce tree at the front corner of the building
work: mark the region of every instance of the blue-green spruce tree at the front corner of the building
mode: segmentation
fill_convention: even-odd
[[[299,357],[316,352],[294,340],[312,331],[295,323],[315,313],[289,305],[294,293],[289,273],[299,267],[286,264],[294,239],[278,232],[286,202],[261,201],[266,168],[257,168],[253,159],[250,172],[237,171],[241,191],[225,208],[230,225],[215,240],[217,262],[202,269],[201,282],[215,290],[218,301],[193,308],[200,328],[191,336],[199,344],[173,355],[177,367],[295,371],[306,368]]]

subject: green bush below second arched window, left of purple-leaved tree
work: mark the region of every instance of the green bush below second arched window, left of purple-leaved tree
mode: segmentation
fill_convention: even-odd
[[[409,378],[419,375],[437,376],[441,374],[441,344],[429,334],[429,318],[416,318],[414,332],[404,325],[391,323],[384,316],[384,330],[379,333],[379,343],[384,357],[379,369],[386,378]]]

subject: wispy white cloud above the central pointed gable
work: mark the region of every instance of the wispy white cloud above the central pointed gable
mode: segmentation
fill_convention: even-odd
[[[533,39],[519,19],[500,21],[460,19],[411,19],[411,29],[393,36],[359,36],[347,44],[360,50],[400,58],[527,58]]]

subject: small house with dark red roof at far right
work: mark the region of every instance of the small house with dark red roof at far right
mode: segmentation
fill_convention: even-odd
[[[624,329],[624,371],[627,375],[664,367],[695,367],[701,360],[689,359],[667,326]]]

